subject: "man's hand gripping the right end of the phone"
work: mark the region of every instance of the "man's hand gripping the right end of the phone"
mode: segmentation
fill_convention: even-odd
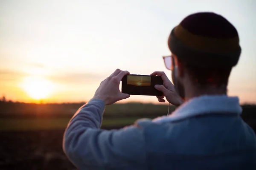
[[[168,79],[166,74],[163,71],[155,71],[151,76],[161,76],[163,79],[163,85],[155,85],[155,88],[163,92],[163,96],[157,96],[159,102],[165,102],[163,97],[166,97],[166,100],[172,105],[179,106],[183,103],[183,100],[177,94],[174,85]]]

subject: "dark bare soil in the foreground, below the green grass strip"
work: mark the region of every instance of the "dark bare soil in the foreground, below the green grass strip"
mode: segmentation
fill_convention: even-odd
[[[62,150],[63,133],[64,130],[0,132],[0,170],[76,170]]]

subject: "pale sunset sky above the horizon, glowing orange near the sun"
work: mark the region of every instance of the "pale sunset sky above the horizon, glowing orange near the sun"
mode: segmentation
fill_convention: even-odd
[[[240,37],[228,94],[256,103],[255,7],[255,0],[0,0],[0,95],[22,102],[88,101],[116,68],[164,71],[171,78],[162,59],[170,54],[170,31],[189,14],[212,11]],[[125,100],[131,101],[157,98]]]

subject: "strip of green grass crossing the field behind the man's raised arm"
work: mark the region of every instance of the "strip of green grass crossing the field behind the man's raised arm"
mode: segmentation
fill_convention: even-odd
[[[102,127],[115,127],[133,124],[138,118],[116,118],[116,119],[103,119]],[[70,119],[57,118],[57,119],[0,119],[1,130],[51,130],[51,129],[64,129]]]

